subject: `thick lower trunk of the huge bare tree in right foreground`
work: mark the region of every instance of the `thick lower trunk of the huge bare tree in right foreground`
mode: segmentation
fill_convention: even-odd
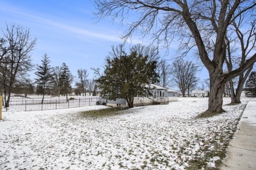
[[[223,72],[215,71],[210,75],[210,92],[208,101],[208,110],[210,114],[224,112],[223,110],[223,92],[225,80]]]

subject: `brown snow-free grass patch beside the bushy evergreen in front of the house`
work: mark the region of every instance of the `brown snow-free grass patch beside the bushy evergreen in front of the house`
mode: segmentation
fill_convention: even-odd
[[[90,118],[100,118],[106,116],[115,116],[121,113],[120,107],[111,107],[107,109],[99,109],[99,110],[89,110],[85,112],[81,112],[82,117],[90,117]]]

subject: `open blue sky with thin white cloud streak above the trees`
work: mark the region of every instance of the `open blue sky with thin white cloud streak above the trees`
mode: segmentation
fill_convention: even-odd
[[[120,37],[127,29],[117,21],[98,22],[93,12],[93,1],[89,0],[0,0],[0,27],[18,24],[30,29],[31,36],[37,38],[32,52],[34,64],[40,64],[46,53],[52,66],[65,62],[74,76],[82,68],[93,78],[90,68],[104,65],[111,46],[123,42]],[[134,38],[132,42],[145,44],[147,40]]]

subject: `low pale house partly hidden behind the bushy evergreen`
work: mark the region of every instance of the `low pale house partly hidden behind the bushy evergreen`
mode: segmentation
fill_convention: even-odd
[[[156,84],[150,84],[150,93],[152,95],[147,96],[135,96],[133,105],[140,106],[140,105],[152,105],[153,103],[159,104],[167,104],[169,101],[177,101],[178,100],[178,92],[175,90],[169,90],[167,88],[163,88]],[[174,94],[174,95],[173,95]],[[112,107],[125,107],[127,106],[127,102],[125,99],[116,99],[116,101],[106,100],[106,105]]]

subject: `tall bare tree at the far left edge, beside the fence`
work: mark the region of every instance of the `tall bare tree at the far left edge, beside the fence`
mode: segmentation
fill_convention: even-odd
[[[5,63],[2,62],[5,107],[9,107],[12,88],[17,76],[25,76],[28,71],[32,70],[30,52],[35,46],[36,39],[30,38],[30,29],[15,24],[7,25],[3,31],[3,39],[9,49],[5,54],[7,55]]]

